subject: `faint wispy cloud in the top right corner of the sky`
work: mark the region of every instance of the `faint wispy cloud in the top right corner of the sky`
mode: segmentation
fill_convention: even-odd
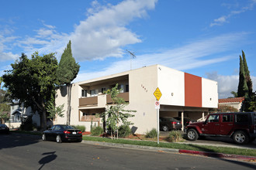
[[[256,1],[252,0],[252,1],[250,1],[250,3],[248,5],[246,5],[244,7],[241,7],[238,10],[233,10],[227,15],[220,16],[220,18],[218,18],[218,19],[214,19],[213,22],[209,26],[210,27],[212,27],[212,26],[222,26],[223,23],[228,22],[228,19],[230,19],[234,15],[238,15],[240,13],[247,12],[248,10],[253,9],[255,4],[256,4]],[[236,7],[236,8],[239,7],[239,5],[237,3],[235,5],[227,5],[228,8],[231,8],[232,6]]]

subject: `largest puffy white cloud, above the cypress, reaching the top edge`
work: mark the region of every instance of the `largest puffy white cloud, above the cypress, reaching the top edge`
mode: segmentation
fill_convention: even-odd
[[[118,5],[88,9],[89,15],[71,34],[72,50],[78,61],[123,56],[123,46],[141,42],[139,36],[127,29],[135,18],[147,16],[157,0],[127,0]]]

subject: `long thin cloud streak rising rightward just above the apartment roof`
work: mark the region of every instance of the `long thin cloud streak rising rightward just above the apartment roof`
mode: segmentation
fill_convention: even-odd
[[[189,70],[213,63],[220,63],[236,56],[231,54],[223,56],[222,53],[230,53],[230,49],[236,48],[237,41],[242,42],[246,36],[247,33],[245,32],[227,34],[209,39],[199,39],[185,46],[168,49],[161,53],[138,55],[137,58],[132,60],[132,68],[136,69],[142,66],[161,64],[177,70]],[[212,57],[209,58],[209,56]],[[74,82],[85,80],[84,77],[88,80],[126,70],[130,70],[130,59],[114,62],[99,72],[79,73]]]

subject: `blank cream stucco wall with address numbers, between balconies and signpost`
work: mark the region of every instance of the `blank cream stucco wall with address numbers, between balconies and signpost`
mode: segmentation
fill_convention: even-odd
[[[157,110],[154,108],[154,90],[157,89],[157,65],[132,70],[129,73],[130,110],[137,110],[131,118],[136,133],[144,134],[157,127]]]

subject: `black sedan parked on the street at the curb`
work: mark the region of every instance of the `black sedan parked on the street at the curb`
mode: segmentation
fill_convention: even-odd
[[[82,141],[82,133],[74,127],[64,124],[56,124],[47,131],[43,131],[42,135],[43,141],[57,141],[61,143],[62,141]]]

